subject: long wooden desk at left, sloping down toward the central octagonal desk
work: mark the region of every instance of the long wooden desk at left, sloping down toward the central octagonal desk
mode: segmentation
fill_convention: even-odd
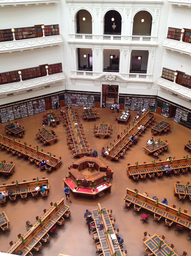
[[[32,147],[29,147],[28,145],[25,145],[21,142],[12,140],[8,137],[5,137],[0,134],[0,145],[5,145],[5,147],[9,147],[11,149],[14,149],[20,153],[23,153],[27,155],[28,157],[34,158],[38,161],[42,161],[43,159],[49,160],[49,162],[46,163],[46,165],[51,166],[53,168],[58,169],[61,164],[61,157],[58,159],[57,157],[52,156],[51,154],[46,154],[44,152],[41,152],[39,149],[36,150]]]

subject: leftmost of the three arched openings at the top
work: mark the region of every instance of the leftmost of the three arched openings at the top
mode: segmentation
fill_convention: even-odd
[[[92,34],[92,16],[86,10],[79,10],[76,14],[76,33]]]

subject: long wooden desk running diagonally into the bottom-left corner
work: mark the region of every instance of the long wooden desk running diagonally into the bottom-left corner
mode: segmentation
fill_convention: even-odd
[[[18,251],[22,251],[22,256],[26,256],[69,208],[64,204],[64,198],[57,201],[56,204],[53,203],[51,208],[40,218],[40,222],[36,222],[32,229],[24,234],[23,241],[19,239],[6,253],[16,254]]]

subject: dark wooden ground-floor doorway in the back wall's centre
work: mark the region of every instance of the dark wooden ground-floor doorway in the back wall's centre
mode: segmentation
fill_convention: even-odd
[[[102,84],[102,102],[111,106],[118,101],[118,85]]]

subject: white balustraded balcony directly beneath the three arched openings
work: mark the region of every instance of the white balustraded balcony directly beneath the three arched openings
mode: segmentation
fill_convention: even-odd
[[[121,36],[121,35],[91,35],[91,34],[70,34],[70,43],[125,43],[125,44],[149,44],[157,45],[156,36]]]

